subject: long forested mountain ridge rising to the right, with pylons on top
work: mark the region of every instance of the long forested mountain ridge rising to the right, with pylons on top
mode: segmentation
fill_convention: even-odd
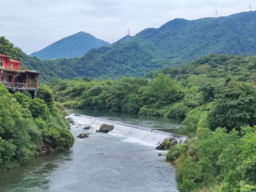
[[[209,53],[256,55],[255,37],[256,12],[241,12],[218,18],[174,19],[158,29],[125,36],[108,47],[90,49],[79,58],[37,64],[27,58],[23,61],[28,68],[46,73],[46,80],[76,76],[118,79],[124,75],[144,76],[166,66],[181,66]]]

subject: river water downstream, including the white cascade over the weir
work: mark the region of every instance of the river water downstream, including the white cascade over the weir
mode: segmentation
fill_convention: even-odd
[[[71,114],[75,144],[0,173],[3,192],[177,192],[174,166],[155,146],[173,136],[138,125]],[[114,130],[96,133],[102,123]],[[90,130],[83,130],[90,125]],[[167,125],[166,125],[167,126]],[[79,139],[80,133],[89,133]]]

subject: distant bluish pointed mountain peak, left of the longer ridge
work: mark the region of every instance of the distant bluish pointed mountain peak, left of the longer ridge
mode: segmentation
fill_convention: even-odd
[[[36,56],[43,60],[63,57],[74,58],[84,55],[85,52],[92,48],[108,45],[108,42],[97,39],[89,33],[78,32],[56,41],[40,51],[33,52],[30,56]]]

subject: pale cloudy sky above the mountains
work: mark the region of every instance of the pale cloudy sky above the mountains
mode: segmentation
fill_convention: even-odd
[[[254,4],[253,4],[254,3]],[[175,18],[188,20],[256,10],[255,0],[0,0],[0,36],[26,54],[87,32],[109,43]]]

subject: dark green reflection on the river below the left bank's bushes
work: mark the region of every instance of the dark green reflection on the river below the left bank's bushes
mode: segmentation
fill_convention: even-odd
[[[0,191],[40,192],[48,191],[49,176],[64,161],[71,160],[71,151],[38,157],[20,167],[0,173]],[[61,154],[61,155],[60,155]]]

